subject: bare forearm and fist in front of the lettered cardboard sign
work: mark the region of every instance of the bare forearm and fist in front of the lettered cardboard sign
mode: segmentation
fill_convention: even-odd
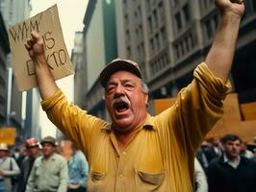
[[[58,90],[58,86],[47,65],[41,36],[33,31],[31,33],[31,38],[25,43],[25,47],[35,65],[40,96],[45,100]]]

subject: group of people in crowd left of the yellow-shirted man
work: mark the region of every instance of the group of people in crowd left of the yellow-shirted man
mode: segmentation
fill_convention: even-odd
[[[85,192],[89,175],[86,157],[75,144],[68,160],[52,136],[29,138],[13,152],[0,144],[0,192]]]

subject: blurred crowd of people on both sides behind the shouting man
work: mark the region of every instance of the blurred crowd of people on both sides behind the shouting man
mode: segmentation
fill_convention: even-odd
[[[68,161],[52,136],[29,138],[11,151],[0,144],[0,192],[85,192],[89,177],[86,157],[72,143]],[[254,151],[253,151],[254,149]],[[236,134],[209,138],[194,159],[194,192],[254,191],[256,143],[248,150]]]

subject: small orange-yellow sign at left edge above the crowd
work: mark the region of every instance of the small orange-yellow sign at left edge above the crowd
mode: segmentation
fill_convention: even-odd
[[[0,143],[6,143],[7,145],[15,144],[15,128],[0,128]]]

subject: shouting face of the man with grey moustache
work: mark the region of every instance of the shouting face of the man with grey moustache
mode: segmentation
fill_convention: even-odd
[[[106,106],[119,132],[137,129],[146,117],[148,95],[141,79],[127,71],[115,72],[105,89]]]

